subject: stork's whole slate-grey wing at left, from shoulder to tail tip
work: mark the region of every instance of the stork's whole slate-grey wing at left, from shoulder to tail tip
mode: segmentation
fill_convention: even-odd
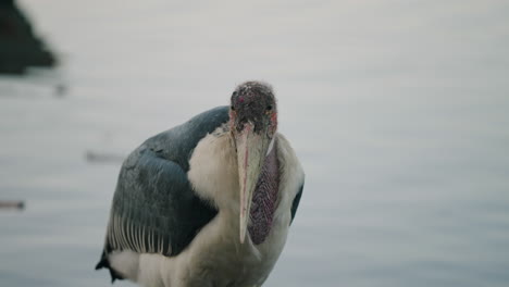
[[[107,255],[113,250],[176,255],[215,216],[218,211],[196,196],[187,179],[188,161],[198,141],[227,120],[226,107],[212,109],[129,154],[119,175],[97,269],[109,267]]]

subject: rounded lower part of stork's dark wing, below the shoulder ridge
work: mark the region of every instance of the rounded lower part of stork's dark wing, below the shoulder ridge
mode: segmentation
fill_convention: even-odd
[[[195,195],[178,164],[151,150],[134,161],[119,177],[105,251],[178,254],[216,211]]]

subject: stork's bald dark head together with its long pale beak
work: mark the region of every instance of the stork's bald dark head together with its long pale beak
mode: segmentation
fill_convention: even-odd
[[[277,129],[277,105],[269,85],[246,82],[235,89],[229,107],[229,129],[237,148],[240,242],[244,242],[252,194]]]

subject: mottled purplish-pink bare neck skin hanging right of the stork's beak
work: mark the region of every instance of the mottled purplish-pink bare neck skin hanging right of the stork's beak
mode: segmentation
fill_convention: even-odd
[[[271,142],[272,149],[265,158],[257,187],[252,195],[249,236],[254,245],[262,244],[269,236],[274,219],[280,190],[280,161],[277,160],[277,142]]]

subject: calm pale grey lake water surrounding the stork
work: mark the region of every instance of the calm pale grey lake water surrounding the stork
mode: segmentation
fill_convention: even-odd
[[[509,286],[507,1],[21,4],[63,62],[0,77],[0,286],[110,286],[114,159],[246,79],[307,173],[265,286]]]

